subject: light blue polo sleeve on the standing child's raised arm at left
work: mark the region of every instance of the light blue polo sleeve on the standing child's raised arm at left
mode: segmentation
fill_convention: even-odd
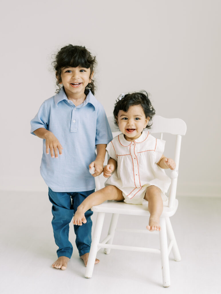
[[[35,135],[33,132],[38,128],[45,128],[47,130],[49,124],[49,116],[45,106],[45,102],[40,106],[38,113],[31,120],[31,131],[30,133]]]

